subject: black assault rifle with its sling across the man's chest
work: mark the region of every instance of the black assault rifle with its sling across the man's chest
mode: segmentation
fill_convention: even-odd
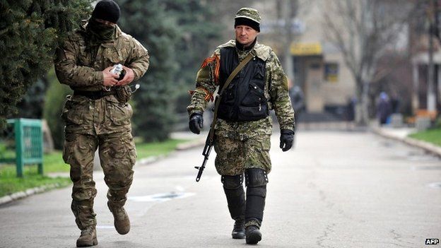
[[[214,135],[214,127],[216,126],[216,121],[218,120],[218,108],[220,104],[220,98],[222,97],[223,91],[228,87],[228,85],[233,81],[233,78],[239,73],[239,71],[247,64],[255,54],[253,52],[250,52],[245,59],[243,59],[239,65],[234,69],[234,71],[228,76],[227,80],[223,84],[222,89],[219,91],[218,96],[216,96],[216,100],[214,101],[214,109],[213,109],[213,122],[211,122],[210,131],[208,131],[208,137],[205,141],[204,151],[202,152],[202,155],[204,155],[204,161],[202,162],[201,166],[195,166],[196,170],[198,171],[198,175],[196,176],[196,182],[199,182],[202,176],[202,172],[204,172],[206,162],[208,160],[208,156],[210,155],[211,148],[213,148],[215,135]]]

